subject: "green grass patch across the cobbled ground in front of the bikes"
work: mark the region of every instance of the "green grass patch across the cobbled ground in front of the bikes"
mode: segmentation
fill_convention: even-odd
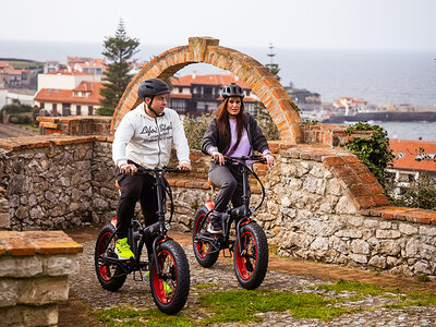
[[[135,310],[114,307],[97,312],[97,319],[105,326],[207,326],[209,324],[250,324],[263,322],[261,313],[289,312],[296,319],[329,322],[342,314],[373,311],[378,307],[341,307],[343,302],[359,301],[366,296],[395,298],[396,303],[384,305],[388,310],[407,306],[436,305],[436,294],[424,292],[400,292],[375,284],[338,280],[332,284],[320,284],[315,290],[335,292],[329,298],[317,293],[293,293],[275,290],[232,290],[214,293],[202,292],[216,287],[215,283],[197,284],[201,291],[196,304],[174,316],[167,316],[157,308]],[[348,296],[336,296],[346,294]],[[331,296],[332,295],[332,296]],[[202,318],[203,317],[203,318]]]

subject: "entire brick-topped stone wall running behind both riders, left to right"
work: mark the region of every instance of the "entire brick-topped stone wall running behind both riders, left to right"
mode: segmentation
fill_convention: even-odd
[[[1,227],[53,229],[109,221],[118,201],[111,138],[38,137],[0,141]],[[435,211],[389,207],[366,166],[339,147],[271,142],[270,148],[277,165],[256,168],[267,199],[255,218],[279,254],[436,275]],[[191,159],[191,173],[167,177],[175,199],[173,229],[186,232],[195,209],[213,196],[209,158],[192,150]],[[255,181],[252,193],[258,203]]]

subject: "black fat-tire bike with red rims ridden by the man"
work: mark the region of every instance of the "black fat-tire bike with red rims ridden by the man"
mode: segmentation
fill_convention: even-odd
[[[165,172],[179,172],[178,168],[164,167],[155,169],[140,168],[136,174],[154,174],[158,201],[158,221],[143,227],[132,217],[128,231],[128,243],[135,255],[134,259],[121,261],[116,254],[117,217],[106,225],[97,237],[95,246],[95,268],[98,281],[105,290],[114,292],[120,289],[129,274],[133,280],[142,281],[149,271],[149,283],[156,306],[166,314],[181,311],[186,303],[190,291],[190,265],[183,247],[167,235],[170,229],[174,204],[171,187],[165,179]],[[166,195],[170,199],[170,215],[166,222]],[[142,261],[146,241],[153,240],[150,259]],[[148,256],[145,256],[148,258]],[[165,283],[166,284],[165,284]],[[171,289],[168,292],[168,287]]]

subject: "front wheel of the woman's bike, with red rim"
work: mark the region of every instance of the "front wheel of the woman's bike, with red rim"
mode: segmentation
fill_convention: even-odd
[[[256,222],[241,228],[241,244],[237,240],[233,265],[238,281],[244,289],[254,290],[264,281],[268,268],[268,242]]]

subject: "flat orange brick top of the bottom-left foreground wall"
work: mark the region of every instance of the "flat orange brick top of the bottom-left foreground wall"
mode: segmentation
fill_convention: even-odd
[[[63,231],[0,231],[0,256],[77,254],[83,252]]]

